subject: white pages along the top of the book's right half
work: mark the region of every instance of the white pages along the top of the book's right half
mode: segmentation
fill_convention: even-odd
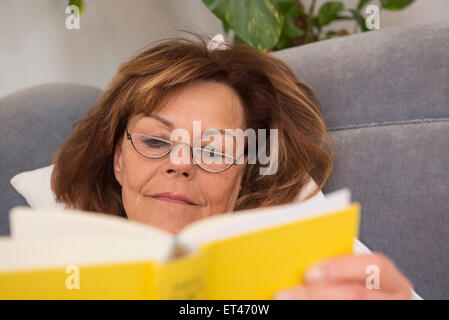
[[[313,198],[301,203],[214,216],[192,223],[179,234],[178,239],[190,250],[196,250],[203,243],[343,210],[349,206],[350,197],[349,189],[344,188],[327,194],[325,199]]]

